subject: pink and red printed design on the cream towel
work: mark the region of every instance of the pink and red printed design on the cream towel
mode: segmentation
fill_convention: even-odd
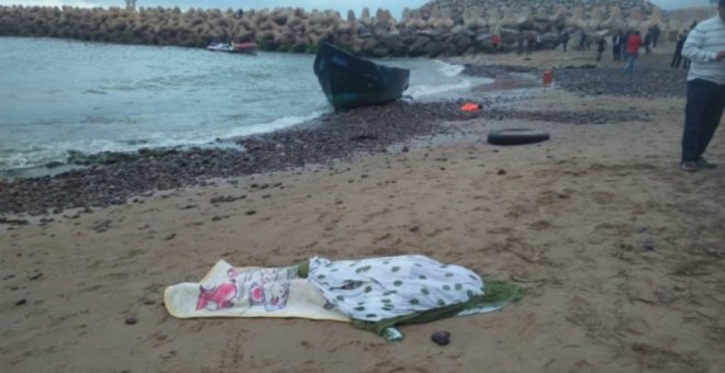
[[[267,312],[282,309],[289,299],[290,281],[295,276],[297,267],[243,271],[230,268],[222,281],[199,285],[197,310],[219,310],[235,305],[264,307]]]

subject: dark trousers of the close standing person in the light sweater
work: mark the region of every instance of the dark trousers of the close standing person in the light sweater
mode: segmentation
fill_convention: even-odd
[[[725,108],[725,84],[703,79],[688,81],[682,161],[698,160],[707,149]]]

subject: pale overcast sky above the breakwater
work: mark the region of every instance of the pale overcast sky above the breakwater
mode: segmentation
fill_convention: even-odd
[[[688,8],[693,5],[706,5],[709,0],[651,0],[662,9],[671,10],[677,8]],[[136,0],[137,7],[179,7],[187,8],[242,8],[242,9],[263,9],[276,7],[294,7],[305,10],[334,9],[341,12],[343,16],[347,10],[354,10],[356,15],[360,15],[362,8],[368,7],[371,13],[378,8],[390,10],[394,18],[400,18],[403,8],[417,8],[426,3],[427,0]],[[124,0],[0,0],[1,5],[22,4],[22,5],[71,5],[71,7],[123,7]]]

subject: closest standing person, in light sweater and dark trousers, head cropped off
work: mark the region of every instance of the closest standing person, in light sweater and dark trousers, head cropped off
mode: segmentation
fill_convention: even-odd
[[[702,21],[690,32],[682,55],[690,58],[692,66],[688,74],[680,169],[693,172],[715,167],[702,155],[725,109],[725,0],[720,0],[716,16]]]

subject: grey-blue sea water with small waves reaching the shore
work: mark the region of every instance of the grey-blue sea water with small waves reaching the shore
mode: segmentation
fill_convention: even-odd
[[[314,55],[0,37],[0,177],[64,163],[71,151],[234,146],[332,106]],[[491,80],[462,66],[390,58],[411,69],[409,100],[455,99]],[[42,173],[43,171],[41,171]]]

